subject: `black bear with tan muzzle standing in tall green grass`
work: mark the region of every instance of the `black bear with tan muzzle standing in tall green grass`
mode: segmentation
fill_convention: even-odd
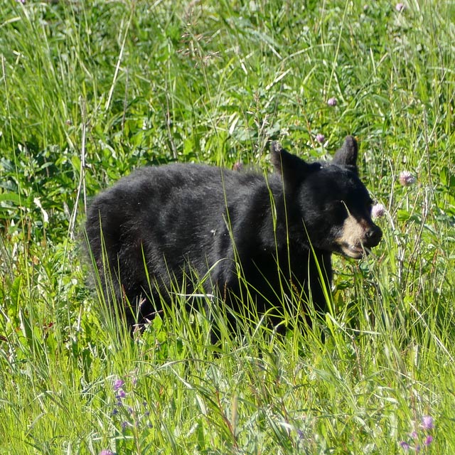
[[[162,310],[173,283],[185,281],[191,294],[195,276],[218,304],[252,305],[273,326],[282,325],[284,300],[326,312],[332,253],[359,259],[382,237],[358,178],[357,142],[347,137],[331,163],[306,163],[277,143],[271,153],[269,176],[151,166],[93,200],[88,247],[107,300],[131,328]]]

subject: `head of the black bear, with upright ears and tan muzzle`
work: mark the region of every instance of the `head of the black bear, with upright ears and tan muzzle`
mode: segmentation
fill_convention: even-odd
[[[306,163],[272,144],[287,213],[297,223],[301,220],[304,237],[319,250],[360,259],[378,245],[382,231],[371,220],[373,200],[358,177],[357,155],[357,142],[351,136],[330,163]]]

